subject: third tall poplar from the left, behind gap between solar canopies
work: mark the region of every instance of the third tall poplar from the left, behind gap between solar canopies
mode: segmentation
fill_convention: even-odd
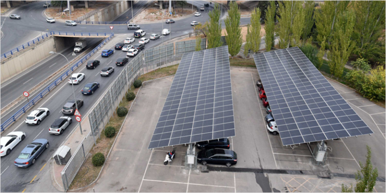
[[[251,24],[248,25],[248,31],[246,36],[246,42],[244,45],[244,55],[248,55],[248,51],[251,50],[253,53],[256,53],[260,49],[260,10],[255,8],[251,13]]]

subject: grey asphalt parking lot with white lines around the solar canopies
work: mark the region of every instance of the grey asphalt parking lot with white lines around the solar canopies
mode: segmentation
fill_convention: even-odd
[[[209,171],[202,172],[203,166],[198,164],[197,170],[185,170],[187,147],[175,146],[175,159],[166,166],[165,153],[172,147],[147,149],[173,80],[171,76],[142,86],[99,180],[91,186],[95,192],[340,191],[342,183],[355,182],[349,174],[359,169],[359,161],[364,161],[366,144],[372,148],[372,163],[378,168],[378,176],[384,178],[384,119],[377,117],[384,117],[383,108],[332,82],[345,99],[351,97],[349,104],[355,106],[375,135],[327,141],[330,150],[326,165],[314,166],[306,144],[282,146],[279,135],[266,130],[265,108],[255,86],[257,70],[232,67],[231,78],[236,136],[230,141],[238,155],[236,165],[227,168],[208,164]],[[372,112],[366,112],[368,107]],[[315,146],[316,143],[310,144],[312,150]],[[348,178],[319,178],[323,172]],[[85,191],[93,191],[91,187]],[[378,181],[374,191],[384,192],[384,181]]]

